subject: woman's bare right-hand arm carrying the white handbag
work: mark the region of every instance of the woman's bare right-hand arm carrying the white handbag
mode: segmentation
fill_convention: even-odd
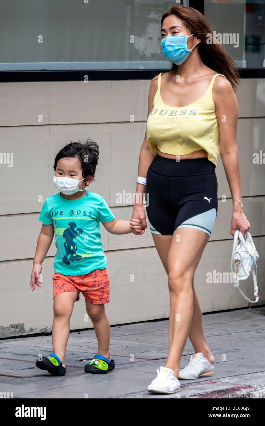
[[[237,150],[238,102],[231,83],[222,76],[218,76],[214,82],[213,100],[219,125],[220,155],[233,199],[230,233],[234,236],[235,230],[239,229],[245,236],[250,224],[243,212],[241,199]]]

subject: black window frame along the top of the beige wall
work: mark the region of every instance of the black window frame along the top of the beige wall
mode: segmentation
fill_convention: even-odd
[[[204,14],[204,0],[189,0],[189,6]],[[84,81],[88,75],[91,81],[108,80],[151,80],[162,69],[111,69],[111,70],[38,70],[0,71],[0,83],[22,81]],[[165,71],[168,71],[165,70]],[[265,78],[265,68],[240,68],[241,78]]]

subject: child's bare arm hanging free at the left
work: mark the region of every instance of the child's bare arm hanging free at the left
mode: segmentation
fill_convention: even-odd
[[[41,287],[40,273],[42,270],[42,263],[45,256],[51,247],[51,242],[54,237],[53,225],[44,225],[41,227],[40,235],[37,241],[37,248],[33,259],[33,268],[31,272],[30,286],[31,290],[34,291],[36,285]]]

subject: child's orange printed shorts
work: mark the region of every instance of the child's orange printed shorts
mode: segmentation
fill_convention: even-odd
[[[52,281],[53,298],[60,293],[77,291],[76,302],[80,299],[80,292],[88,302],[95,305],[109,302],[109,277],[107,268],[74,276],[54,273]]]

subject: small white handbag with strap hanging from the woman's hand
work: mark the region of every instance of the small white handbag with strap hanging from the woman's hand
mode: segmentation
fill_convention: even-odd
[[[256,297],[256,300],[248,299],[248,297],[245,296],[245,294],[240,290],[239,286],[237,286],[242,296],[250,303],[256,303],[259,300],[258,285],[256,280],[256,260],[258,258],[259,254],[256,250],[251,234],[249,232],[246,232],[244,238],[239,229],[237,229],[234,234],[234,245],[231,257],[231,271],[233,273],[234,283],[237,283],[237,280],[240,279],[247,279],[252,273],[254,282],[254,296]]]

